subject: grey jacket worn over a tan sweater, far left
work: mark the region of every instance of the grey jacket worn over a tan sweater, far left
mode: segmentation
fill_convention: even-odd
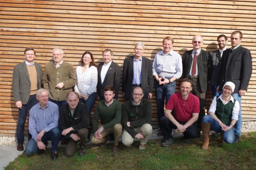
[[[42,67],[35,62],[35,69],[38,77],[38,89],[41,88],[41,81],[43,76]],[[25,61],[15,65],[12,77],[12,91],[14,101],[21,101],[22,105],[26,105],[30,96],[30,79],[29,72]]]

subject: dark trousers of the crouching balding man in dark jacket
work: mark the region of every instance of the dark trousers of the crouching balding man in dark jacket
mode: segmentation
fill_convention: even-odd
[[[84,146],[87,140],[88,129],[80,129],[77,135],[80,137],[81,146]],[[71,157],[74,155],[74,153],[76,152],[77,142],[78,141],[73,140],[71,137],[68,139],[67,146],[65,147],[65,156]]]

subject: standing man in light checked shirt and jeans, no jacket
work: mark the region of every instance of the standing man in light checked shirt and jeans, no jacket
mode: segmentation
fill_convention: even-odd
[[[170,96],[175,94],[175,81],[182,75],[182,59],[180,54],[172,50],[173,42],[174,40],[171,37],[165,37],[163,39],[163,50],[156,54],[153,62],[159,123],[161,117],[164,116],[164,105],[167,104]],[[162,135],[162,131],[158,135]]]

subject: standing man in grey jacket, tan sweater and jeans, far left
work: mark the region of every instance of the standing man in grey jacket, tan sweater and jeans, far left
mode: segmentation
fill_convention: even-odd
[[[35,50],[26,48],[24,51],[26,60],[15,65],[12,78],[12,91],[14,101],[19,108],[17,122],[17,150],[22,151],[24,142],[24,126],[28,111],[38,103],[36,92],[41,88],[42,67],[34,62]],[[29,134],[29,138],[31,135]]]

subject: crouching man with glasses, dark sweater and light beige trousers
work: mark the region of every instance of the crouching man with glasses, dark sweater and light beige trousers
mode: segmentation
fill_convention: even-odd
[[[152,104],[148,99],[143,99],[141,87],[134,88],[132,97],[122,105],[122,143],[131,147],[134,138],[140,139],[140,150],[146,148],[148,137],[152,133],[152,126],[149,124],[152,119]]]

